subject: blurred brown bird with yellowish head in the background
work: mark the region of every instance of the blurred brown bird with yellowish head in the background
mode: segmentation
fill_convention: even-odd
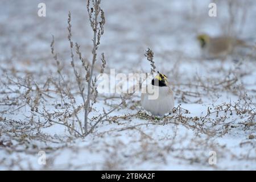
[[[224,59],[231,55],[236,47],[250,47],[243,40],[232,36],[210,37],[207,34],[197,36],[202,56],[206,59]]]

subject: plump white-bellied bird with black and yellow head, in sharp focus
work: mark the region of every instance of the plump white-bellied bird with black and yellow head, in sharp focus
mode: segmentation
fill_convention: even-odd
[[[150,98],[149,86],[158,92],[157,97]],[[145,110],[150,111],[152,115],[163,117],[174,108],[174,92],[168,86],[166,75],[158,72],[146,87],[146,92],[141,94],[141,105]]]

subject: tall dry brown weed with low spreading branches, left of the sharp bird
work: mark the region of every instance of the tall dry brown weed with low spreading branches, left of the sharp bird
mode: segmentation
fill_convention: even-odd
[[[86,6],[89,14],[90,26],[92,27],[92,30],[93,30],[93,39],[92,39],[93,47],[92,47],[91,63],[89,63],[87,59],[84,59],[82,57],[79,44],[73,43],[72,41],[71,12],[69,12],[68,14],[68,40],[69,40],[69,47],[70,47],[70,53],[71,53],[71,66],[73,68],[73,73],[76,78],[77,86],[79,88],[79,94],[81,95],[83,105],[75,106],[75,97],[73,97],[73,94],[71,93],[70,88],[68,88],[68,86],[65,85],[67,87],[65,91],[60,90],[59,92],[60,93],[63,92],[68,96],[69,100],[71,101],[73,112],[69,114],[68,117],[64,117],[64,120],[62,120],[63,123],[59,122],[61,121],[61,119],[59,119],[59,121],[53,120],[52,114],[48,113],[47,111],[45,111],[45,113],[39,113],[43,115],[49,122],[54,122],[54,123],[58,123],[60,125],[66,126],[68,130],[71,131],[71,133],[74,132],[79,137],[86,137],[88,134],[92,133],[93,130],[96,128],[96,125],[98,125],[98,123],[100,123],[101,121],[106,121],[109,117],[109,114],[112,113],[114,110],[118,109],[118,107],[123,105],[125,103],[125,100],[129,98],[129,97],[121,97],[121,103],[119,105],[113,107],[109,111],[104,110],[104,113],[100,114],[98,118],[92,117],[92,119],[90,119],[91,127],[88,129],[88,122],[89,122],[88,115],[93,110],[93,104],[96,103],[96,98],[98,96],[98,91],[96,86],[97,77],[93,75],[93,71],[94,71],[95,63],[97,61],[97,50],[98,50],[98,46],[100,45],[100,39],[101,39],[101,36],[104,34],[104,24],[105,24],[105,15],[104,15],[104,11],[100,7],[100,2],[101,2],[100,0],[88,0],[87,6]],[[75,65],[76,60],[73,53],[74,48],[76,49],[77,56],[79,57],[82,63],[82,67],[84,68],[84,71],[85,71],[84,76],[77,71],[77,68]],[[62,78],[62,81],[64,82],[64,79],[60,73],[61,72],[61,69],[59,68],[60,63],[54,52],[54,39],[52,40],[52,43],[51,43],[51,50],[52,50],[54,59],[57,61],[58,73],[60,74],[60,78]],[[100,73],[104,73],[105,67],[106,67],[105,56],[104,56],[104,53],[101,53]],[[85,95],[84,93],[85,85],[88,86],[87,95]],[[61,86],[64,86],[64,85],[59,84],[58,88],[64,89],[64,88],[61,88]],[[61,94],[61,97],[63,98],[62,94]],[[82,125],[82,120],[77,115],[77,113],[81,108],[84,109],[84,123],[83,123],[84,125]],[[75,129],[74,121],[72,125],[67,121],[67,118],[72,116],[75,116],[81,131]]]

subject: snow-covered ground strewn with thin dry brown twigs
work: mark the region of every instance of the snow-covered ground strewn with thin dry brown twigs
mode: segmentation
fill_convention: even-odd
[[[83,118],[67,19],[71,11],[73,42],[90,61],[93,32],[86,1],[44,0],[46,17],[37,14],[40,2],[1,1],[0,169],[256,169],[255,56],[204,60],[196,41],[199,33],[217,36],[231,29],[255,45],[254,1],[234,1],[230,18],[228,1],[215,1],[217,17],[209,17],[210,1],[102,0],[106,24],[98,56],[105,53],[106,73],[149,73],[144,52],[150,47],[157,70],[168,76],[175,92],[176,109],[152,119],[134,94],[85,138],[39,113],[56,113],[52,119],[63,122],[60,113],[73,112],[67,96],[67,110],[61,107],[57,92],[50,47],[54,35],[63,86],[71,90],[73,105],[80,106],[77,116]],[[82,73],[77,56],[75,64]],[[98,74],[100,58],[96,64]],[[99,94],[89,117],[119,102],[118,94]],[[39,151],[46,152],[45,165]],[[217,164],[210,164],[215,154]]]

